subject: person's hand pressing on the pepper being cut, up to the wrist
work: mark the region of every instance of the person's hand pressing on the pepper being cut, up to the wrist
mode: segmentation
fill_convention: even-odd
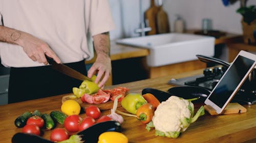
[[[109,79],[111,73],[111,60],[109,56],[106,55],[97,55],[97,59],[88,71],[88,77],[91,78],[93,74],[97,73],[95,83],[99,83],[99,87],[102,88],[106,83],[106,80]]]

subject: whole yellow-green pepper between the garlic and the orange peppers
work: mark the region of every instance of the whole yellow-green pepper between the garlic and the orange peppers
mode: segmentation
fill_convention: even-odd
[[[137,109],[143,105],[146,104],[147,101],[143,98],[142,95],[137,93],[130,93],[127,94],[121,101],[122,107],[133,114],[136,114]]]

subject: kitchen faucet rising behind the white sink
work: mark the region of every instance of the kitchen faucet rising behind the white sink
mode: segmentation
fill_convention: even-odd
[[[142,11],[142,0],[139,1],[139,7],[140,7],[140,28],[137,28],[135,30],[135,33],[140,33],[140,36],[145,36],[146,32],[151,31],[151,27],[145,27],[144,22],[144,13]]]

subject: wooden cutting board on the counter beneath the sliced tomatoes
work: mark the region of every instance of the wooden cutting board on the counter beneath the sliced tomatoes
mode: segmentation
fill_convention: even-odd
[[[70,95],[66,95],[62,97],[62,103],[65,102],[66,100],[70,100],[69,98]],[[109,110],[112,109],[114,101],[108,101],[105,103],[101,103],[101,104],[91,104],[91,103],[85,103],[81,101],[81,98],[76,98],[76,99],[72,99],[75,100],[76,102],[78,102],[80,104],[81,107],[83,108],[87,108],[90,105],[95,105],[97,106],[100,110]],[[117,107],[121,107],[121,102],[118,102]]]

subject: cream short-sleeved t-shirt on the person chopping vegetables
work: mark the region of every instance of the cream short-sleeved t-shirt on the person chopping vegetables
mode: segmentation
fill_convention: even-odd
[[[108,0],[1,0],[0,24],[45,41],[62,63],[91,59],[87,34],[114,29]],[[7,67],[43,66],[32,61],[18,45],[0,42],[2,64]]]

